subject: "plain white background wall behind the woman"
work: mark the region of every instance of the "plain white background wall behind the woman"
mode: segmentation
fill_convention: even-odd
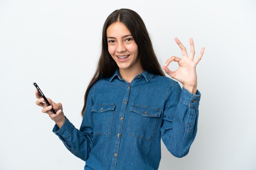
[[[198,89],[198,133],[186,157],[162,143],[160,170],[256,169],[256,2],[254,0],[85,1],[0,0],[0,169],[82,170],[35,105],[38,83],[81,124],[85,89],[95,71],[101,31],[115,9],[141,15],[159,62],[181,57],[174,41],[193,37]],[[171,64],[171,69],[177,68]]]

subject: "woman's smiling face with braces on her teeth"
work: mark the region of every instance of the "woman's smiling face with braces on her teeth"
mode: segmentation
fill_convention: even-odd
[[[138,46],[128,28],[122,22],[114,22],[107,28],[108,52],[124,71],[141,70]]]

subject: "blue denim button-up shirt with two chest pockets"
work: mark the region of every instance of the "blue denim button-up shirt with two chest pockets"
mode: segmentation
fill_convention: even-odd
[[[53,132],[85,170],[157,170],[161,137],[175,157],[188,154],[199,100],[171,78],[145,71],[129,84],[117,69],[90,88],[79,130],[66,118]]]

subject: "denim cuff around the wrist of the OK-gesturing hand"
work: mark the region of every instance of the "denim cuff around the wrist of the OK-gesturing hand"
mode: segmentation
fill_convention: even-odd
[[[201,93],[197,90],[196,94],[192,94],[187,89],[182,87],[180,101],[189,107],[198,107]]]

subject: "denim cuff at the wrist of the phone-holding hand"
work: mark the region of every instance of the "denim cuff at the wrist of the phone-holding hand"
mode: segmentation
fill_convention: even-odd
[[[66,118],[64,124],[61,126],[61,129],[57,124],[55,124],[52,131],[61,138],[67,138],[71,135],[74,128],[75,126]]]

